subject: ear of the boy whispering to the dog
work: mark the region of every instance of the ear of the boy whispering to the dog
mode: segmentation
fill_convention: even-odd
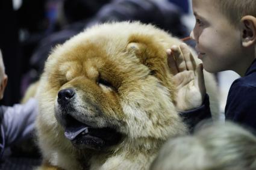
[[[243,47],[249,47],[256,43],[256,18],[254,16],[244,16],[241,23],[242,45]]]

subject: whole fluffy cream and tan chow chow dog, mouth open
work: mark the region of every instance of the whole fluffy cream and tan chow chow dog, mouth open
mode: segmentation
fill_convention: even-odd
[[[38,169],[148,169],[167,138],[187,133],[166,55],[180,43],[155,26],[120,22],[55,47],[37,90]],[[205,80],[216,103],[216,82]]]

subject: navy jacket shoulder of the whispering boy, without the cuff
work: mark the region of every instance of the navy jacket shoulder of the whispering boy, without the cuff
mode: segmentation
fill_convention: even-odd
[[[245,73],[235,80],[228,93],[225,118],[256,131],[256,59]]]

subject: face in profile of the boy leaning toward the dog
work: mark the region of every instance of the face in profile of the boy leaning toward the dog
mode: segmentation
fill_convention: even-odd
[[[195,28],[190,34],[196,41],[198,58],[205,70],[234,70],[242,61],[242,44],[239,28],[235,28],[220,13],[213,0],[192,0],[196,18]]]

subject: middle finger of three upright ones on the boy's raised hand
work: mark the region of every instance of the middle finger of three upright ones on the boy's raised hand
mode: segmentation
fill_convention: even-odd
[[[175,58],[178,71],[181,72],[187,70],[186,62],[180,48],[178,46],[172,46],[170,49],[172,50],[172,55]]]

